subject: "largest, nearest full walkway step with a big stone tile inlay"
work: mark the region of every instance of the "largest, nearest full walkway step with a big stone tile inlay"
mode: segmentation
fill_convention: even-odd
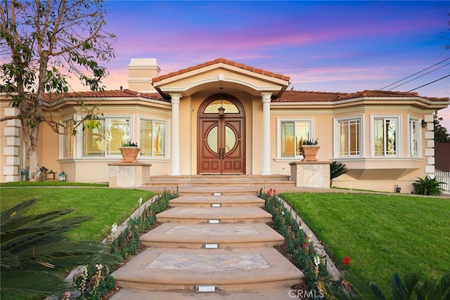
[[[149,248],[113,273],[118,285],[151,290],[289,288],[303,274],[276,249]]]

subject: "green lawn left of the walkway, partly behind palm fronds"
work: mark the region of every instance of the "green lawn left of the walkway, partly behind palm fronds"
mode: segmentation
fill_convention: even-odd
[[[41,184],[41,183],[40,183]],[[40,185],[39,185],[40,186]],[[30,187],[0,190],[0,209],[8,209],[25,200],[39,199],[30,211],[39,214],[58,209],[75,209],[68,217],[92,216],[94,220],[82,223],[68,233],[70,240],[101,241],[110,233],[113,223],[121,224],[142,203],[156,195],[146,190],[115,188]]]

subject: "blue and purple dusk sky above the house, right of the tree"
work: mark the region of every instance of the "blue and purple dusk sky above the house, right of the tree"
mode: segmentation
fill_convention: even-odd
[[[450,1],[106,4],[106,30],[117,35],[106,89],[128,87],[131,58],[156,58],[160,74],[226,58],[289,76],[299,91],[382,89],[437,64],[385,89],[428,84],[414,91],[450,96],[450,77],[429,84],[450,74]],[[449,130],[450,108],[439,116]]]

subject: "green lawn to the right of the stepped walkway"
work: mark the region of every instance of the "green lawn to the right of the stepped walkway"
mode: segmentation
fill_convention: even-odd
[[[450,272],[450,199],[368,193],[286,193],[285,199],[323,241],[338,268],[390,294],[390,276]],[[346,267],[347,268],[347,267]]]

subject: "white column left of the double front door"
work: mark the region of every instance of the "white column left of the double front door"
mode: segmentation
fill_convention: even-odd
[[[170,175],[180,175],[180,93],[171,93],[172,99],[172,169]]]

